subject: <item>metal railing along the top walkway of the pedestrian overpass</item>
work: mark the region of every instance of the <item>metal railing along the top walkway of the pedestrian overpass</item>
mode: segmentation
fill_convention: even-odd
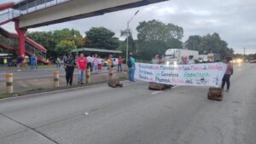
[[[3,23],[8,20],[13,20],[19,17],[22,14],[29,14],[34,11],[38,11],[40,9],[46,9],[52,6],[55,6],[60,3],[65,3],[70,0],[36,0],[32,3],[26,3],[25,5],[16,8],[16,9],[8,9],[7,12],[0,14],[0,23]]]

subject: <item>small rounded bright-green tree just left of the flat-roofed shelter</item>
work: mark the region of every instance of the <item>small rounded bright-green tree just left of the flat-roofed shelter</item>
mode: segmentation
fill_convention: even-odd
[[[73,49],[77,49],[75,42],[70,40],[61,40],[55,47],[57,56],[68,55]]]

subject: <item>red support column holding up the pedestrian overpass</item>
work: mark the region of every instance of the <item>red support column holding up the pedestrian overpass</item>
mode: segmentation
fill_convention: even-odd
[[[19,54],[24,59],[25,58],[25,40],[26,40],[26,29],[19,28],[19,20],[15,20],[15,30],[19,35]]]

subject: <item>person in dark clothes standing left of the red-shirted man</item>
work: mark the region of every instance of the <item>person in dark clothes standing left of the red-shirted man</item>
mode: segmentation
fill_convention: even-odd
[[[72,86],[73,83],[73,70],[76,66],[76,61],[73,59],[72,55],[69,55],[69,57],[65,60],[64,66],[66,67],[66,81],[67,85],[69,84]]]

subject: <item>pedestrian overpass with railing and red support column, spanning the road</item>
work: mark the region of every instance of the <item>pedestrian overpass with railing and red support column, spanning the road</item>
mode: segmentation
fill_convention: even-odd
[[[15,21],[20,56],[25,56],[26,30],[70,20],[79,20],[166,0],[22,0],[0,4],[0,26]],[[37,49],[37,47],[35,47]]]

